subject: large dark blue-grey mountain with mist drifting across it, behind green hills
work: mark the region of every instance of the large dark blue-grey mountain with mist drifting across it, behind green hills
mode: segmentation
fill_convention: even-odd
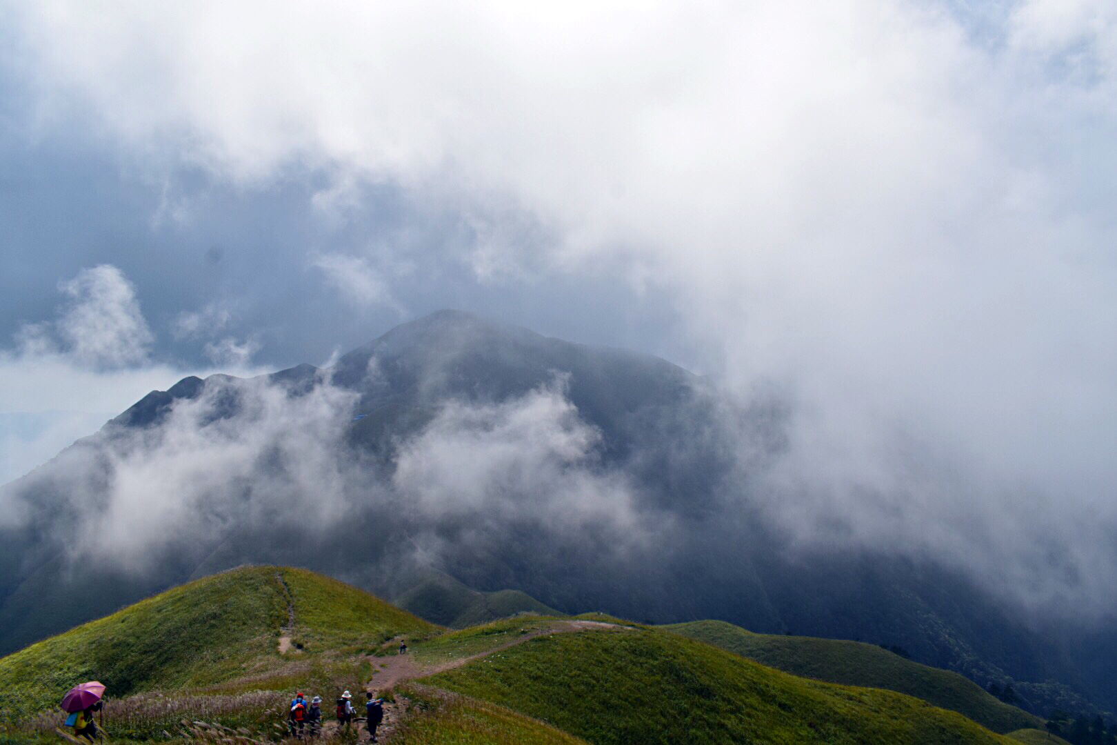
[[[321,369],[187,378],[0,491],[0,652],[277,563],[888,643],[1040,713],[1117,705],[1095,615],[1037,615],[948,555],[803,541],[771,477],[793,418],[776,389],[450,311]]]

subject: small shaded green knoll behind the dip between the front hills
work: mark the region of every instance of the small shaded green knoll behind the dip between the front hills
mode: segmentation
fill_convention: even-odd
[[[446,574],[429,575],[397,598],[395,604],[451,629],[465,629],[525,612],[561,615],[555,609],[518,590],[480,592]]]

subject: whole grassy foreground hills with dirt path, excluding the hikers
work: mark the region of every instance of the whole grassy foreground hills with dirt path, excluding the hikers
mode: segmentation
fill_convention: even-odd
[[[400,637],[411,653],[392,653]],[[798,678],[605,615],[449,631],[270,566],[199,580],[0,659],[0,743],[57,742],[57,703],[88,679],[108,686],[114,742],[278,742],[294,690],[327,700],[319,743],[352,742],[330,700],[370,686],[389,700],[384,734],[407,745],[1020,742],[908,696]]]

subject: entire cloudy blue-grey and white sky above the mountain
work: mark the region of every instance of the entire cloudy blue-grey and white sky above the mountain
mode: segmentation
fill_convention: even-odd
[[[1108,525],[1115,120],[1111,0],[0,3],[0,479],[456,307]]]

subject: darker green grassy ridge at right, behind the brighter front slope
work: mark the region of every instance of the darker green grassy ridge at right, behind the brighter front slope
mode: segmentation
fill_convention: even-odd
[[[694,621],[661,628],[792,675],[915,696],[964,714],[993,732],[1043,727],[1039,717],[997,700],[956,672],[913,662],[876,644],[752,633],[724,621]]]

